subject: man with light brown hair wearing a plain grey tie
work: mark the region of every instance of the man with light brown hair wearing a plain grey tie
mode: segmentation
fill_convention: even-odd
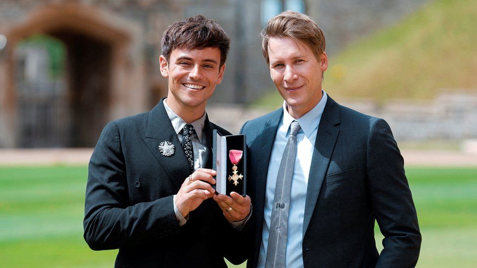
[[[286,11],[267,22],[262,52],[284,102],[240,131],[254,178],[247,267],[415,266],[421,235],[403,158],[384,120],[322,90],[323,31]]]

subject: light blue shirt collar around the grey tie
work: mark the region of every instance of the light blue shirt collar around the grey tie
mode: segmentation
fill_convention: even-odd
[[[328,99],[325,90],[322,90],[323,97],[321,100],[313,107],[313,109],[309,110],[306,114],[300,117],[297,121],[300,124],[303,132],[305,133],[306,137],[310,137],[310,135],[315,131],[315,129],[320,124],[321,116],[323,115],[323,111],[325,110],[325,104]],[[293,120],[295,120],[291,115],[288,113],[286,109],[286,102],[283,101],[283,125],[290,127],[290,124]]]

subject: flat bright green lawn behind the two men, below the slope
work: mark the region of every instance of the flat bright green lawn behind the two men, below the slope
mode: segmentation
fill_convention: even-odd
[[[477,263],[477,168],[407,168],[423,243],[418,267]],[[0,167],[1,267],[111,267],[83,240],[87,167]],[[376,235],[381,247],[381,235]]]

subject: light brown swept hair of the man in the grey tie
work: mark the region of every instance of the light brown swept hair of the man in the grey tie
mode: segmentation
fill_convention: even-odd
[[[289,37],[304,42],[311,48],[318,61],[325,52],[326,41],[323,30],[310,17],[299,12],[287,10],[271,18],[260,35],[261,51],[267,63],[270,63],[268,42],[271,37]]]

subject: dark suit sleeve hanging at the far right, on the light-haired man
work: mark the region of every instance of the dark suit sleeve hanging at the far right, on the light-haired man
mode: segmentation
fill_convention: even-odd
[[[414,267],[419,257],[421,234],[404,161],[382,119],[371,124],[368,139],[367,174],[373,211],[383,246],[376,267]]]

